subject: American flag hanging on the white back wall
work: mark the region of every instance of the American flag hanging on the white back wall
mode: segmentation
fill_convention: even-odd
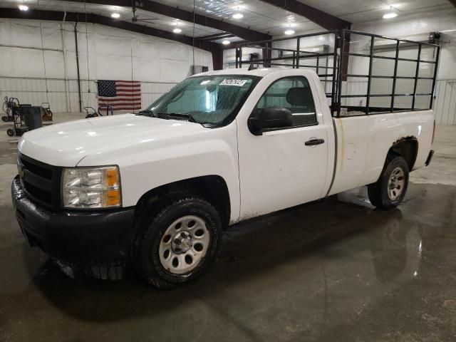
[[[98,105],[111,105],[113,110],[140,110],[141,83],[98,80]]]

